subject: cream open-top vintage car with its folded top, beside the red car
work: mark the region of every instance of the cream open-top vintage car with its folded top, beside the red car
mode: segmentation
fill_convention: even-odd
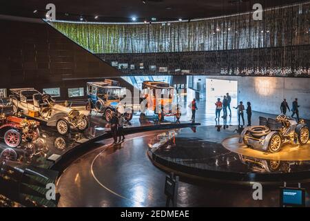
[[[34,88],[10,91],[15,114],[22,110],[23,115],[46,122],[48,126],[55,126],[61,135],[69,133],[70,129],[85,131],[89,126],[90,111],[78,111],[64,104],[57,104],[50,95],[39,93]]]

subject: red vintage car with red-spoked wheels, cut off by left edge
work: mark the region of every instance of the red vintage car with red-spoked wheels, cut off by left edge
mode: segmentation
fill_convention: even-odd
[[[20,117],[0,115],[0,134],[6,145],[17,147],[22,141],[32,142],[39,138],[39,122]]]

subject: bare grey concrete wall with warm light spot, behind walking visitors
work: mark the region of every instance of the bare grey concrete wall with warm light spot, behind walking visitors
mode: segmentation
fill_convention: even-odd
[[[253,111],[279,114],[280,103],[287,99],[289,107],[298,98],[300,117],[310,119],[310,79],[285,77],[211,77],[238,81],[238,102],[251,102]]]

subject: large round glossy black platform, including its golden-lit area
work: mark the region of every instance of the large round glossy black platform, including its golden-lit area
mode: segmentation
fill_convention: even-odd
[[[258,153],[242,145],[236,146],[240,131],[242,129],[237,126],[225,130],[223,126],[199,126],[196,133],[189,128],[181,129],[167,142],[158,139],[149,144],[148,155],[159,168],[198,180],[276,185],[309,180],[309,158],[301,158],[303,154],[309,155],[309,148],[285,146],[283,153]],[[235,151],[225,148],[228,144],[235,145]],[[245,151],[247,154],[243,155]],[[288,157],[290,152],[293,154]]]

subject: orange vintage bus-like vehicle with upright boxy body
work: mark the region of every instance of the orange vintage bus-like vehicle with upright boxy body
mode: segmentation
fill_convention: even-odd
[[[158,120],[162,121],[165,116],[175,116],[180,119],[180,106],[174,105],[174,87],[160,81],[143,81],[143,99],[147,110],[154,111]]]

